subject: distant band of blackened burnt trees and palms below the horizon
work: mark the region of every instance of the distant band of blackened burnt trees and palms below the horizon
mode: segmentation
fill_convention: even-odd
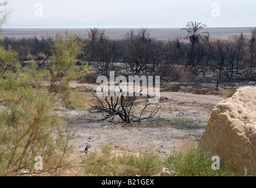
[[[192,78],[216,80],[216,89],[223,80],[255,81],[256,28],[251,29],[249,38],[241,33],[222,40],[201,32],[205,26],[188,22],[182,29],[188,33],[188,39],[169,41],[151,38],[147,29],[137,33],[131,30],[122,40],[107,38],[103,29],[89,29],[85,31],[85,39],[77,36],[84,44],[78,59],[106,76],[110,70],[116,70],[122,75],[160,75],[172,81],[180,79],[180,72],[186,71]],[[52,43],[54,39],[45,37],[0,40],[5,49],[17,52],[23,66],[26,61],[34,60],[38,68],[47,65]]]

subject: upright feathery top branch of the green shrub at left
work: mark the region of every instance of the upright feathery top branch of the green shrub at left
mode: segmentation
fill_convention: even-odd
[[[50,99],[61,99],[68,107],[82,106],[74,105],[76,97],[71,92],[69,82],[71,80],[80,79],[89,73],[88,65],[77,66],[77,56],[81,53],[83,44],[78,40],[76,35],[65,32],[65,36],[57,33],[54,45],[52,45],[52,58],[50,62]],[[58,95],[58,98],[56,96]],[[76,103],[78,104],[78,103]]]

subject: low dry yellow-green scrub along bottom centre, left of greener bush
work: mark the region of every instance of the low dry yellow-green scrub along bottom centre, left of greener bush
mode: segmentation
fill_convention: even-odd
[[[153,176],[162,169],[162,159],[153,152],[117,156],[109,145],[101,153],[91,152],[84,159],[84,173],[90,176]]]

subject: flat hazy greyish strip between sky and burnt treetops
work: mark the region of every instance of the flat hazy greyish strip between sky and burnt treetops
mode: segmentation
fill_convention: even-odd
[[[185,38],[186,32],[181,32],[182,28],[147,28],[150,37],[160,40],[173,39],[173,38]],[[65,31],[70,33],[76,33],[82,38],[87,38],[88,29],[2,29],[2,37],[11,38],[29,38],[37,36],[50,36],[54,38],[57,32],[65,33]],[[105,29],[106,36],[110,39],[123,39],[132,28],[127,29]],[[133,29],[134,32],[138,32],[140,29]],[[244,36],[250,35],[250,28],[204,28],[202,31],[207,31],[212,36],[212,38],[228,39],[229,36],[238,35],[244,33]]]

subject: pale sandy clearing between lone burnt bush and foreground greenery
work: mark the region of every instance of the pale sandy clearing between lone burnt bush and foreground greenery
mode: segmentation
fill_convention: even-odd
[[[73,83],[74,88],[79,86]],[[99,115],[88,110],[58,111],[60,116],[67,116],[69,126],[75,134],[71,139],[74,152],[83,153],[86,145],[91,145],[88,152],[100,151],[101,143],[113,146],[114,150],[132,153],[146,152],[169,153],[174,146],[194,136],[199,139],[211,115],[214,106],[224,100],[215,95],[195,95],[181,92],[161,92],[161,109],[153,119],[141,124],[123,125],[109,122],[97,123]],[[140,103],[136,110],[142,107]]]

